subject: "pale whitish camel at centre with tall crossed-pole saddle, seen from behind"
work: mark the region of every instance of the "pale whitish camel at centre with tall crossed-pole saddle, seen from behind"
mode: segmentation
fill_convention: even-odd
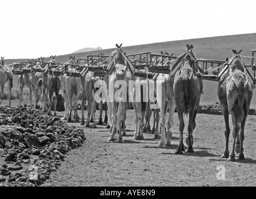
[[[122,139],[122,134],[126,135],[125,132],[125,121],[126,121],[126,109],[128,107],[129,101],[129,80],[134,80],[133,66],[129,59],[126,57],[124,52],[118,46],[118,49],[113,53],[112,63],[114,67],[110,64],[107,67],[109,70],[104,78],[105,81],[109,80],[107,85],[107,100],[109,108],[109,121],[111,121],[111,135],[109,141],[114,141],[117,139],[118,142],[124,142]],[[116,86],[119,86],[116,88]],[[121,124],[123,124],[123,133],[121,132]],[[117,133],[117,134],[116,134]]]

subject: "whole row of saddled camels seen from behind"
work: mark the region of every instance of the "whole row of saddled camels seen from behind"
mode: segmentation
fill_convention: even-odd
[[[106,87],[102,86],[102,95],[106,96],[105,101],[107,101],[108,108],[108,120],[107,127],[110,128],[109,141],[118,140],[123,141],[123,136],[126,135],[125,121],[126,121],[126,110],[128,103],[124,99],[129,99],[135,111],[135,132],[134,139],[144,139],[143,132],[146,129],[150,129],[149,119],[152,112],[154,113],[154,137],[160,139],[159,147],[164,147],[171,144],[171,127],[174,126],[174,111],[177,108],[177,115],[179,118],[179,131],[180,131],[180,141],[177,147],[176,154],[183,154],[185,151],[183,143],[183,133],[184,133],[184,114],[189,116],[189,124],[187,125],[188,137],[185,140],[188,146],[187,152],[194,152],[193,149],[193,131],[196,127],[195,118],[197,116],[197,111],[200,103],[200,95],[203,91],[202,78],[199,75],[202,73],[202,68],[197,62],[197,58],[192,52],[192,48],[187,45],[187,49],[182,55],[177,57],[174,62],[165,62],[165,65],[169,66],[170,73],[154,73],[154,78],[139,77],[134,75],[135,68],[129,58],[127,58],[126,53],[124,53],[117,45],[117,50],[112,52],[112,60],[109,62],[106,68],[101,64],[101,67],[106,70],[104,78],[94,75],[94,72],[87,70],[86,67],[81,72],[81,76],[69,76],[66,73],[61,76],[54,76],[54,73],[49,72],[49,66],[51,63],[55,63],[55,57],[51,57],[50,62],[37,62],[44,68],[43,72],[33,72],[27,73],[25,75],[19,76],[19,82],[21,86],[26,85],[29,82],[31,85],[31,93],[36,96],[34,99],[34,109],[36,108],[36,103],[38,101],[37,92],[41,90],[42,99],[44,101],[44,109],[47,110],[48,114],[51,114],[51,108],[47,109],[47,98],[51,107],[52,95],[56,95],[55,100],[59,90],[62,89],[65,99],[65,114],[64,118],[71,121],[72,107],[74,107],[74,119],[79,120],[77,114],[77,98],[79,94],[82,95],[82,119],[81,124],[85,124],[84,121],[84,104],[87,100],[87,123],[89,126],[89,120],[92,116],[93,127],[96,127],[95,123],[95,105],[96,100],[94,98],[97,89],[95,88],[95,83],[97,80],[104,79],[106,82]],[[155,60],[157,63],[158,60]],[[43,64],[46,65],[43,65]],[[162,62],[164,63],[164,62]],[[76,64],[74,62],[74,57],[70,57],[69,62],[64,63],[65,65]],[[0,65],[4,66],[4,61],[2,59]],[[32,66],[31,66],[32,67]],[[4,67],[2,67],[4,68]],[[67,70],[73,70],[72,68]],[[146,68],[146,73],[148,68]],[[0,68],[1,71],[1,68]],[[2,75],[4,73],[0,73]],[[142,71],[142,70],[140,70]],[[143,70],[145,72],[145,70]],[[7,72],[6,72],[7,73]],[[8,76],[8,75],[6,75]],[[2,78],[1,78],[2,80]],[[11,79],[8,77],[6,81]],[[120,81],[121,80],[121,81]],[[134,82],[132,89],[129,89],[129,81]],[[119,87],[113,87],[114,92],[111,91],[110,85],[115,85],[119,83]],[[121,83],[120,83],[121,82]],[[11,83],[10,83],[11,85]],[[150,85],[154,87],[154,92],[148,92]],[[11,87],[11,86],[10,86]],[[126,87],[126,93],[119,93],[120,88]],[[139,88],[140,92],[137,92]],[[222,114],[225,120],[225,150],[221,157],[227,158],[230,161],[235,161],[235,152],[239,154],[238,159],[244,160],[244,127],[247,115],[249,113],[250,101],[252,99],[252,90],[254,85],[250,76],[245,72],[244,62],[240,57],[240,54],[236,51],[232,58],[229,58],[224,63],[223,74],[220,77],[218,85],[218,98],[220,101],[220,106],[222,109]],[[120,97],[119,100],[111,100],[110,93],[117,93]],[[48,97],[47,97],[48,95]],[[138,98],[142,100],[136,100]],[[21,95],[22,96],[22,95]],[[147,96],[147,100],[143,100]],[[156,100],[154,101],[153,98]],[[152,104],[152,101],[155,104]],[[56,104],[54,102],[55,110],[54,115],[56,116]],[[11,105],[11,103],[10,103]],[[74,106],[73,106],[74,105]],[[152,106],[154,105],[154,106]],[[156,106],[157,105],[157,106]],[[153,108],[152,108],[153,107]],[[167,111],[168,110],[168,111]],[[234,137],[234,142],[232,146],[232,151],[229,153],[229,113],[232,116],[233,130],[232,135]],[[168,115],[167,115],[168,114]],[[101,116],[100,116],[101,118]],[[165,118],[168,118],[166,121]],[[155,127],[156,126],[156,127]],[[121,131],[123,129],[123,131]]]

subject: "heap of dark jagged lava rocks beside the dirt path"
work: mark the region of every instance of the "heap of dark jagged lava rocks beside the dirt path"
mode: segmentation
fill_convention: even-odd
[[[27,106],[0,107],[0,125],[0,150],[5,157],[0,174],[9,175],[9,183],[0,178],[4,186],[41,185],[61,165],[65,154],[86,140],[82,129],[67,126],[59,117],[32,111]],[[31,170],[27,169],[31,164],[39,168],[32,178]]]

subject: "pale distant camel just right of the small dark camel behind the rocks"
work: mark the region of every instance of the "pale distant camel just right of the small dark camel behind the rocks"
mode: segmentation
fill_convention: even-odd
[[[64,63],[63,67],[68,67],[68,64],[76,64],[74,62],[74,57],[69,57],[71,60],[69,62]],[[71,70],[74,70],[72,68],[67,69],[67,72],[71,72]],[[73,71],[74,72],[74,71]],[[77,100],[78,96],[81,93],[81,78],[75,77],[75,76],[67,76],[66,73],[62,73],[61,75],[61,85],[62,85],[62,91],[64,94],[64,106],[65,106],[65,114],[62,120],[67,119],[68,111],[69,118],[68,121],[71,122],[71,113],[72,113],[72,103],[74,101],[74,119],[76,121],[79,121],[79,116],[77,113]]]

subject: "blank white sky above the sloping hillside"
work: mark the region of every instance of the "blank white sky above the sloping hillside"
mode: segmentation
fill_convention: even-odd
[[[255,0],[1,0],[0,56],[256,33]],[[256,39],[256,38],[255,38]]]

